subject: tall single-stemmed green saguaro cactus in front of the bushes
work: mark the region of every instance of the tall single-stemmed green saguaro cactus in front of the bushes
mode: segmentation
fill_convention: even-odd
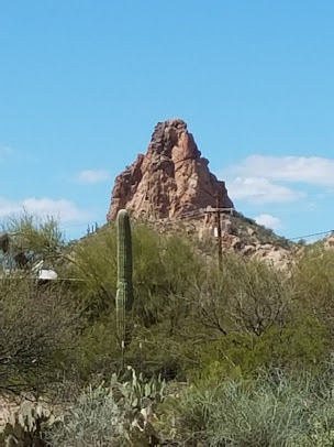
[[[124,348],[125,312],[133,305],[132,285],[132,237],[129,214],[121,209],[116,217],[118,225],[118,292],[116,320],[118,336]]]

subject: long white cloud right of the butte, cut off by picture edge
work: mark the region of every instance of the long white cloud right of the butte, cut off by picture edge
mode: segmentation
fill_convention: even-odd
[[[320,186],[334,185],[334,160],[319,156],[250,155],[231,171],[243,177],[266,177]]]

